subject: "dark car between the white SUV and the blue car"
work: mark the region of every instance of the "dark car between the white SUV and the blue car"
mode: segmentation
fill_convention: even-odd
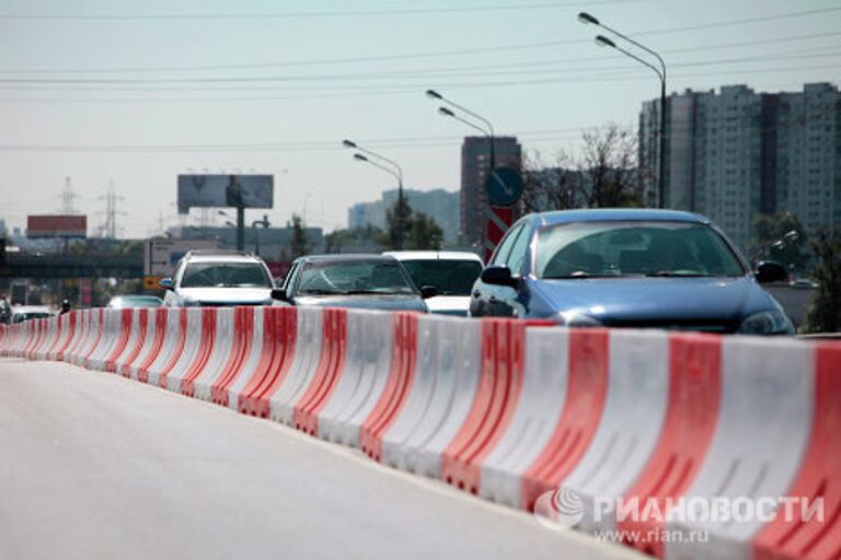
[[[437,291],[419,290],[403,266],[384,255],[315,255],[292,262],[273,298],[291,305],[364,307],[426,313],[424,302]]]

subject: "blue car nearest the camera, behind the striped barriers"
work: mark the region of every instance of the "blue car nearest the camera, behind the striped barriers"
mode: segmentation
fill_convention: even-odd
[[[472,316],[551,318],[567,326],[791,335],[761,283],[785,268],[748,261],[708,219],[671,210],[529,214],[473,285]]]

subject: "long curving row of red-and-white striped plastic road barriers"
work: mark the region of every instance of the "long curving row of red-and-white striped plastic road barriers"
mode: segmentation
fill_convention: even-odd
[[[841,555],[838,343],[356,310],[140,308],[4,327],[0,354],[270,418],[584,532],[621,532],[658,557]],[[738,521],[617,505],[669,512],[680,500],[796,503]],[[820,515],[804,515],[809,503]]]

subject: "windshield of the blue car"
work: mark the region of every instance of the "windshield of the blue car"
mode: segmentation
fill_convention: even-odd
[[[712,228],[688,222],[577,222],[538,236],[535,276],[736,277],[746,273]]]

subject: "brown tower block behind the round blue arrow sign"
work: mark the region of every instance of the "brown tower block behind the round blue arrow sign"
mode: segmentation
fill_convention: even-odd
[[[516,137],[494,139],[496,166],[520,168],[522,148]],[[482,243],[487,222],[485,179],[491,168],[491,141],[469,136],[461,144],[461,235],[468,243]]]

